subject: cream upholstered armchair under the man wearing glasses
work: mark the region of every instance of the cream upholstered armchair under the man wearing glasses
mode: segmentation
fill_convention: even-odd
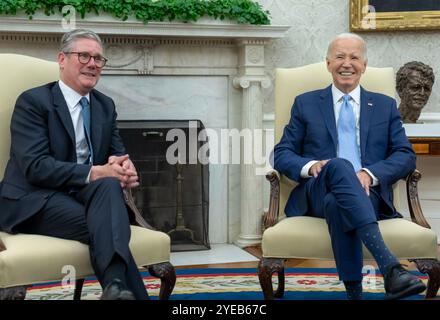
[[[10,120],[17,97],[25,90],[55,81],[58,64],[17,54],[0,54],[0,180],[9,159]],[[137,226],[131,227],[130,249],[140,267],[161,279],[160,299],[168,299],[176,282],[170,264],[170,238],[148,229],[133,205],[130,192],[126,202],[134,211]],[[2,214],[0,208],[0,214]],[[81,298],[84,278],[92,276],[88,246],[78,241],[40,235],[0,232],[0,300],[24,299],[26,286],[44,281],[60,281],[64,266],[74,266],[74,299]]]

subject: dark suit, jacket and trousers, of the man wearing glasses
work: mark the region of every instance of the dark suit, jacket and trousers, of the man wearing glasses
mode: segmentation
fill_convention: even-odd
[[[125,154],[113,100],[90,92],[94,165]],[[129,251],[130,221],[116,178],[86,183],[90,164],[78,164],[72,118],[58,82],[22,93],[11,119],[11,151],[0,183],[0,230],[89,244],[98,279],[117,253],[138,299],[146,291]],[[61,270],[60,270],[61,272]]]

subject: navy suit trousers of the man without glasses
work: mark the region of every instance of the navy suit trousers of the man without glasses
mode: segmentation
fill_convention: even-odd
[[[306,182],[308,215],[326,219],[339,278],[362,280],[362,242],[356,229],[377,223],[386,207],[376,190],[362,188],[353,165],[341,158],[330,160],[318,177]]]

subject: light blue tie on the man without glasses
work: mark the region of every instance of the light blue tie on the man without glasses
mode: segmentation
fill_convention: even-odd
[[[348,102],[350,96],[346,94],[343,99],[338,120],[338,157],[350,161],[354,170],[358,172],[362,164],[356,138],[356,118],[353,107]]]

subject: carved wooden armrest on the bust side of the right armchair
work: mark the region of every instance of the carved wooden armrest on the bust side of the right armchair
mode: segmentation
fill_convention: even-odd
[[[414,170],[406,178],[406,195],[408,200],[409,213],[411,220],[418,225],[431,229],[431,226],[426,221],[423,215],[422,207],[420,206],[418,182],[422,178],[422,174],[418,170]]]

